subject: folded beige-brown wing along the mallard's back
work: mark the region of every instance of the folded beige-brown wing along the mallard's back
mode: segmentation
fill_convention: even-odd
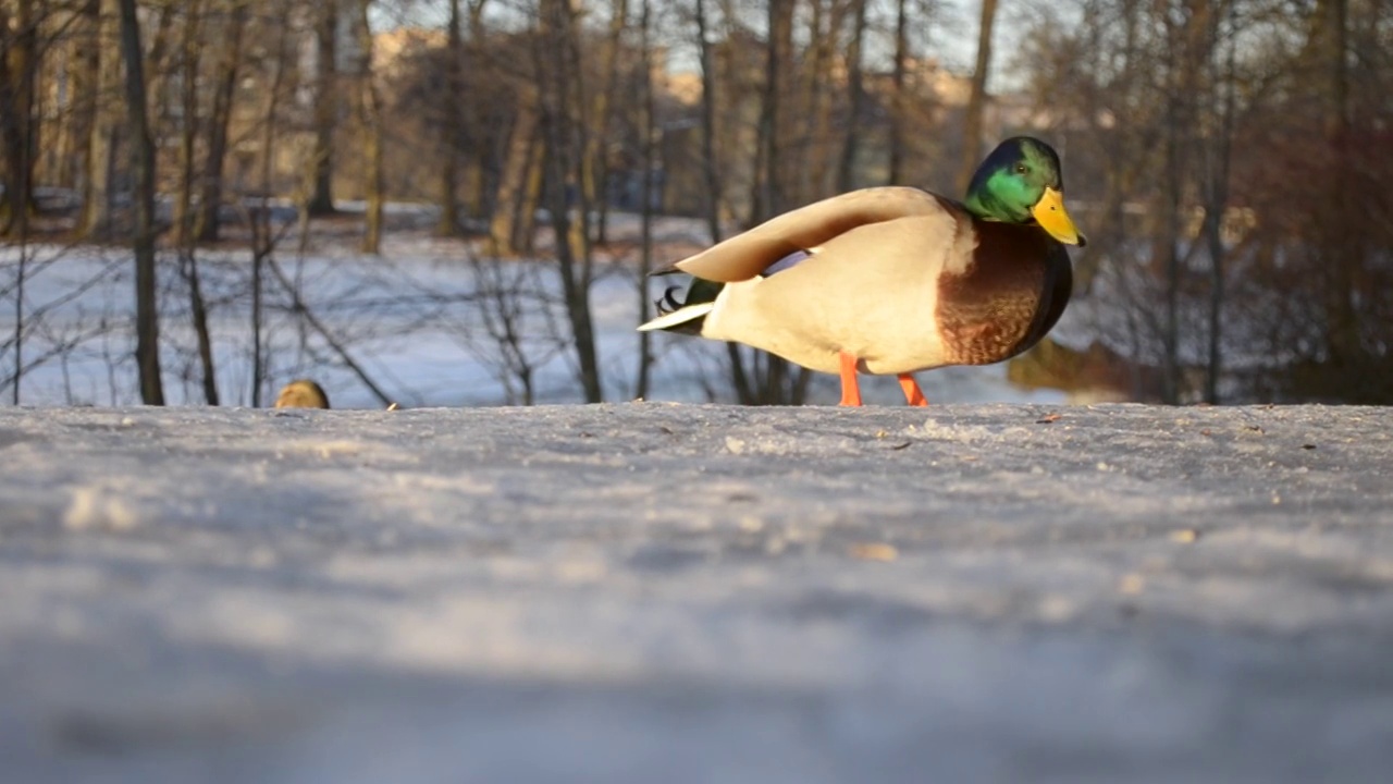
[[[918,188],[864,188],[772,218],[655,275],[685,272],[722,283],[749,280],[780,259],[812,251],[858,226],[956,212],[961,212],[956,202]]]

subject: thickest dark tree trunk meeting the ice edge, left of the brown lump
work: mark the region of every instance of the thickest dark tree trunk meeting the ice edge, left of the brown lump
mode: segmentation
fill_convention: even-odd
[[[159,303],[155,279],[155,145],[146,117],[145,64],[135,0],[118,0],[125,60],[125,109],[131,135],[131,239],[135,251],[135,360],[141,400],[164,405],[160,382]]]

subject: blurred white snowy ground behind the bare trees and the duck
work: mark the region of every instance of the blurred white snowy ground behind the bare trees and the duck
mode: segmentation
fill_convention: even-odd
[[[352,206],[352,205],[345,205]],[[429,213],[412,215],[429,223]],[[612,236],[637,237],[630,215],[612,219]],[[663,219],[659,240],[666,251],[685,254],[699,247],[692,220]],[[352,223],[318,229],[299,252],[294,237],[274,254],[284,286],[263,273],[266,382],[262,405],[293,378],[318,379],[336,409],[380,409],[383,403],[345,367],[343,356],[316,332],[290,290],[323,324],[365,372],[396,403],[421,406],[496,406],[525,402],[508,354],[500,347],[503,314],[513,315],[517,356],[531,365],[532,399],[539,403],[582,402],[574,353],[566,349],[570,328],[560,307],[560,279],[553,262],[471,258],[461,241],[429,237],[421,229],[398,229],[384,237],[383,252],[357,252]],[[632,254],[616,259],[600,254],[592,285],[598,353],[607,400],[635,398],[639,338],[638,275]],[[17,247],[0,248],[0,381],[13,378],[13,324],[18,262]],[[134,365],[134,268],[123,248],[36,246],[24,252],[24,364],[21,403],[118,406],[139,402]],[[160,258],[162,364],[166,399],[171,405],[203,402],[202,371],[189,318],[189,286],[178,254]],[[198,275],[209,300],[217,385],[223,405],[252,402],[251,252],[247,248],[205,250]],[[649,282],[646,300],[662,294]],[[734,402],[724,370],[724,346],[687,336],[657,335],[648,399]],[[515,364],[515,363],[514,363]],[[31,367],[32,365],[32,367]],[[1006,379],[1006,365],[944,368],[921,374],[931,400],[1057,402],[1053,391],[1027,391]],[[893,378],[866,382],[871,402],[903,400]],[[3,400],[10,382],[0,384]],[[809,402],[836,403],[834,377],[819,375]]]

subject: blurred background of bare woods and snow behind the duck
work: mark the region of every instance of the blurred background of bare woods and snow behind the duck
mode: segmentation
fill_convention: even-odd
[[[11,405],[833,403],[634,332],[645,272],[1014,134],[1074,300],[931,400],[1393,402],[1379,0],[0,0],[0,47]]]

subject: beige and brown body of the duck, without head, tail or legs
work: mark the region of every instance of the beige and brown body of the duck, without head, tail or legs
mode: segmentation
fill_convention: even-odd
[[[762,275],[786,255],[769,258],[781,251],[762,234],[797,234],[808,218],[825,226],[819,213],[854,213],[858,202],[901,215],[809,243],[808,258]],[[912,188],[868,188],[814,204],[677,268],[733,278],[702,321],[703,338],[823,372],[839,372],[840,354],[850,353],[861,372],[876,375],[1010,359],[1055,325],[1073,280],[1064,247],[1038,227],[983,222]]]

